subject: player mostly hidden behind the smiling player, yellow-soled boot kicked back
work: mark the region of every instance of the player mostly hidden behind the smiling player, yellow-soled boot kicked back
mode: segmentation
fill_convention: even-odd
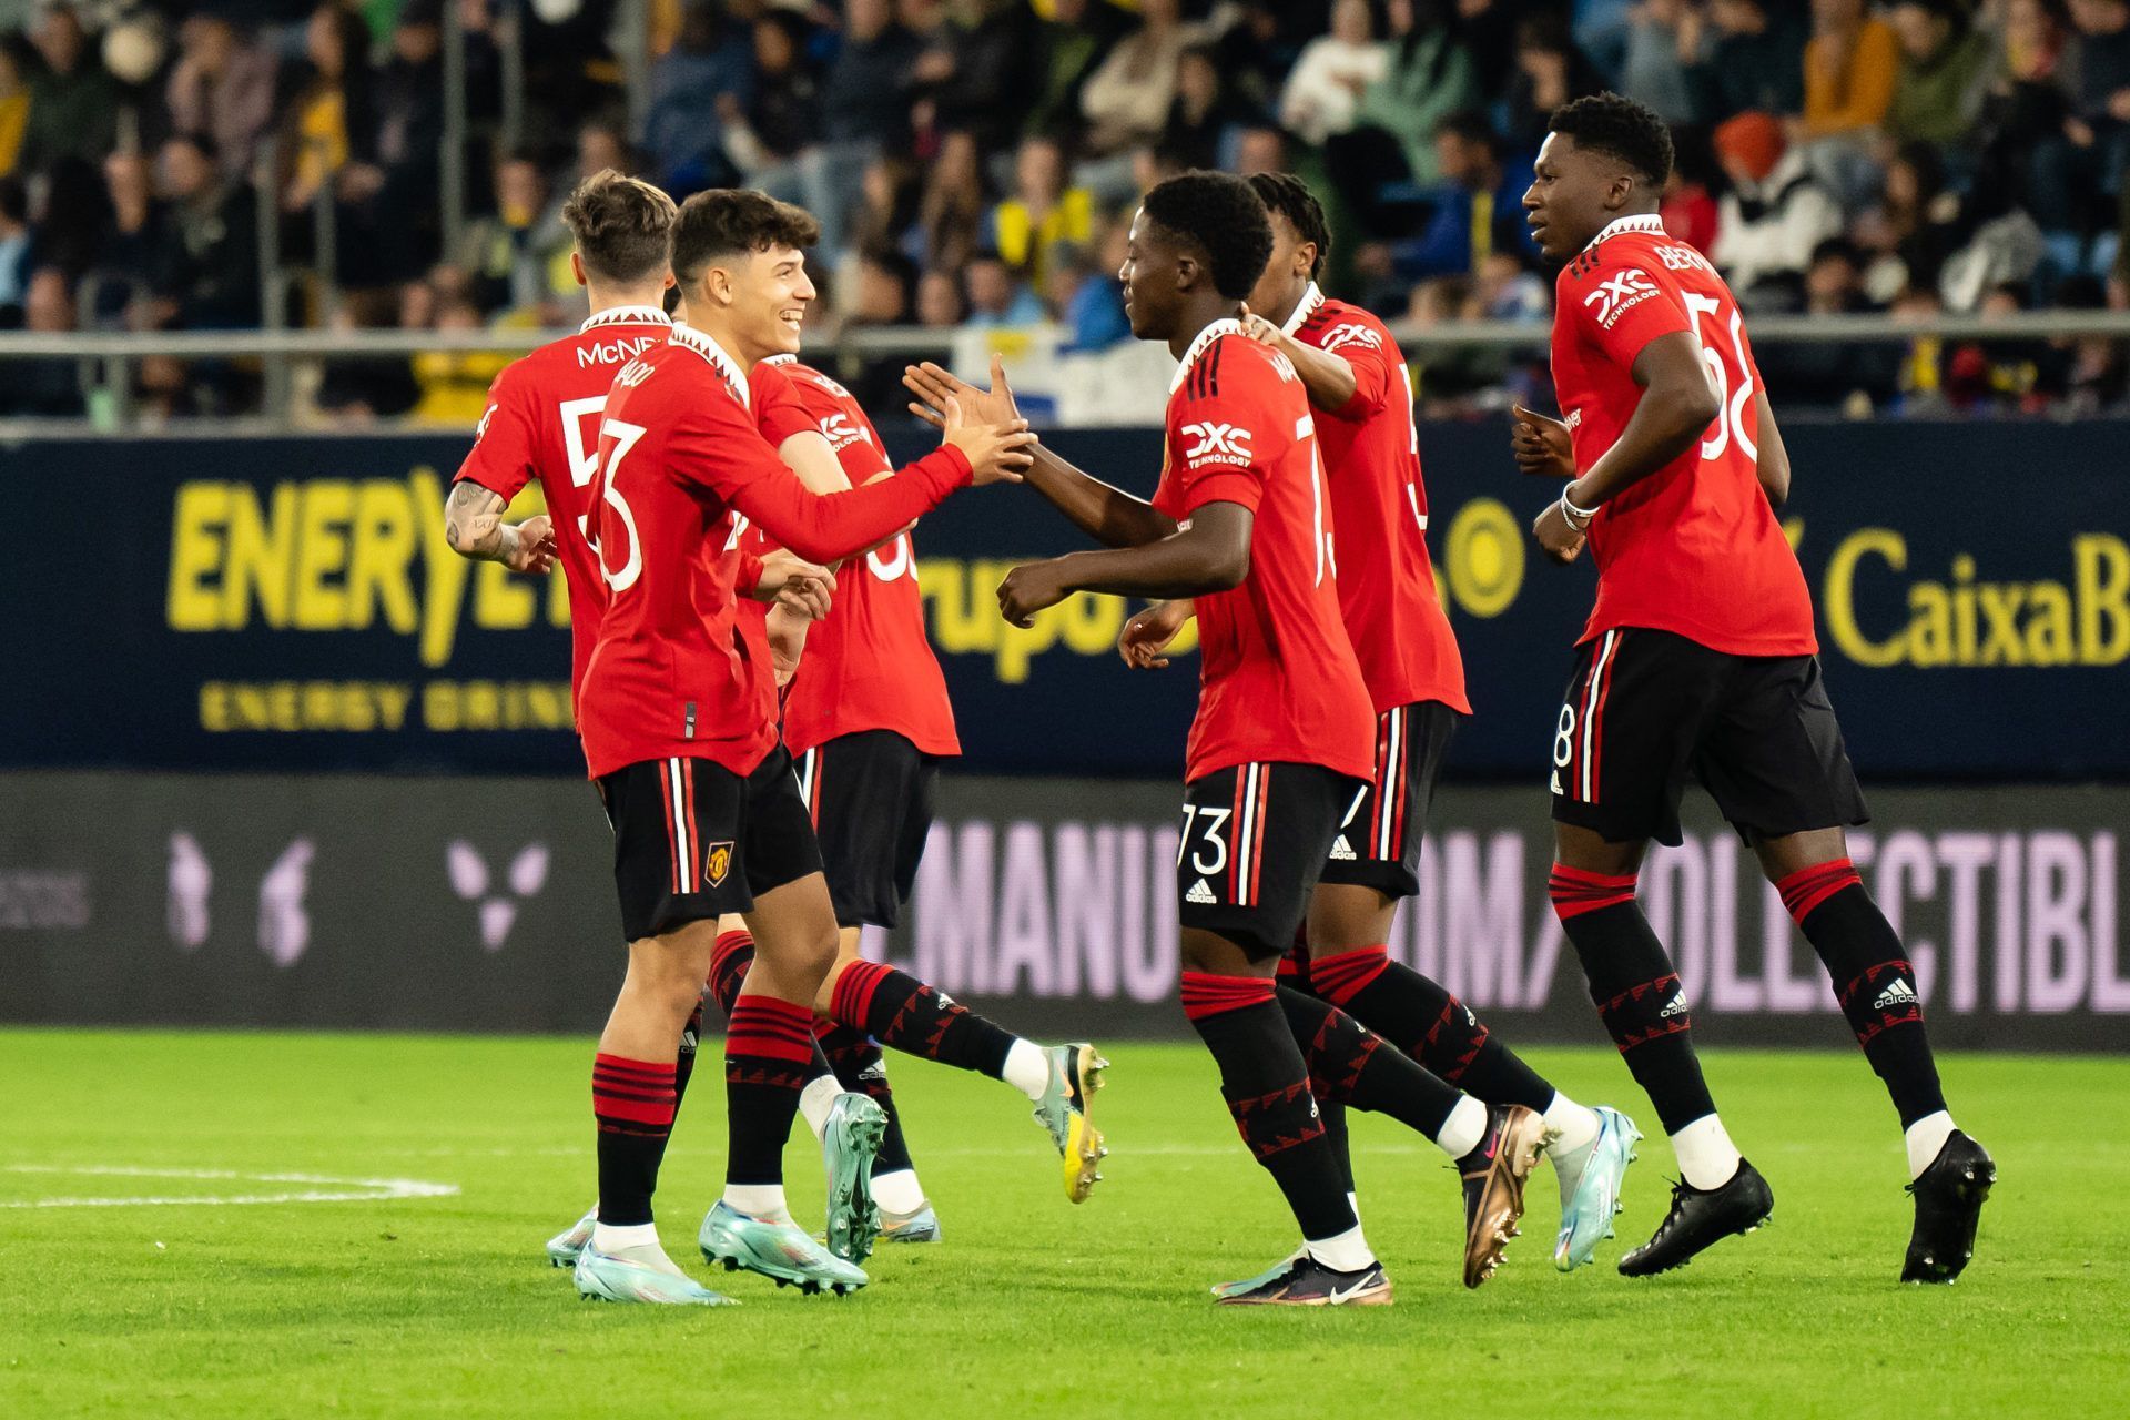
[[[843,485],[890,475],[880,434],[837,381],[794,358],[782,368],[814,426],[841,460]],[[843,481],[848,479],[848,481]],[[760,528],[746,547],[773,556]],[[888,1118],[871,1179],[886,1241],[937,1241],[939,1218],[918,1184],[888,1088],[882,1045],[978,1071],[1018,1088],[1035,1105],[1065,1160],[1065,1196],[1082,1203],[1101,1177],[1101,1133],[1088,1103],[1108,1064],[1093,1045],[1035,1045],[956,1005],[905,971],[861,960],[865,924],[892,928],[916,884],[944,756],[961,754],[946,677],[924,639],[924,602],[910,532],[846,564],[835,611],[805,626],[805,658],[784,703],[784,743],[820,835],[835,901],[837,960],[822,981],[822,1047],[848,1090],[865,1090]],[[731,979],[748,943],[720,939],[711,988]],[[720,994],[722,1001],[722,994]]]

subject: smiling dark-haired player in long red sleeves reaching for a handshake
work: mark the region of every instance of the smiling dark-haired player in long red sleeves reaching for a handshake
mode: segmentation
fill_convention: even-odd
[[[673,221],[686,324],[613,377],[592,477],[607,583],[577,698],[586,760],[613,822],[628,973],[592,1071],[599,1222],[577,1258],[586,1297],[722,1301],[665,1256],[652,1224],[673,1122],[677,1041],[709,973],[720,913],[758,950],[731,1009],[726,1188],[699,1245],[709,1262],[837,1292],[865,1273],[790,1220],[782,1152],[814,1047],[812,1003],[835,962],[820,849],[777,743],[775,683],[733,613],[739,513],[809,562],[871,547],[952,490],[1014,477],[1031,434],[969,426],[901,477],[812,494],[750,409],[748,373],[792,351],[814,285],[803,211],[703,192]]]

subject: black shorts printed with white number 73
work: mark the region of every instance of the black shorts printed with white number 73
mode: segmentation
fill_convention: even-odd
[[[1238,764],[1186,783],[1178,920],[1250,960],[1287,952],[1359,790],[1321,764]]]

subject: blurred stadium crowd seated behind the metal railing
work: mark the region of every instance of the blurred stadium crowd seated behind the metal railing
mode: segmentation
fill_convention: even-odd
[[[471,115],[456,234],[445,2]],[[573,324],[560,204],[613,166],[809,207],[846,326],[1052,321],[1099,351],[1129,339],[1112,273],[1137,194],[1223,166],[1312,183],[1327,290],[1542,330],[1519,198],[1549,111],[1602,87],[1676,128],[1666,224],[1751,313],[2130,307],[2130,0],[645,0],[622,23],[633,2],[0,0],[0,328],[253,328],[268,232],[294,324]],[[2126,400],[2102,339],[1759,358],[1785,404],[1847,413]],[[330,364],[307,398],[471,426],[503,362]],[[1455,415],[1544,379],[1461,349],[1419,394]],[[136,385],[162,415],[260,398],[245,362],[141,362]],[[70,362],[0,381],[0,413],[81,398]]]

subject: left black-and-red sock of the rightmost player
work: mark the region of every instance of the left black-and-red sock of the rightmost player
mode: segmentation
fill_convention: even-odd
[[[1676,1135],[1717,1111],[1693,1054],[1678,971],[1649,918],[1634,903],[1634,875],[1608,877],[1553,864],[1553,911],[1583,960],[1598,1018],[1612,1033],[1627,1073],[1657,1107],[1664,1133]]]

